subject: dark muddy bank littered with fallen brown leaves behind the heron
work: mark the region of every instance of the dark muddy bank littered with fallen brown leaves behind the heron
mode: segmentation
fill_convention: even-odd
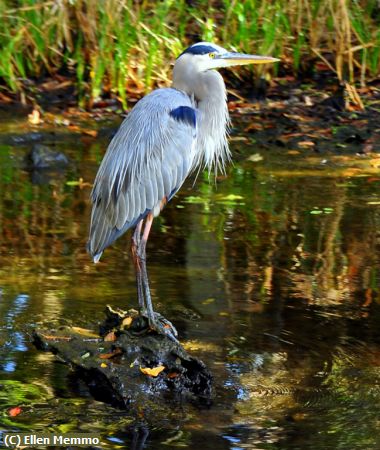
[[[232,137],[243,134],[249,142],[268,150],[275,146],[308,154],[379,153],[380,83],[374,81],[359,93],[364,109],[350,103],[347,92],[333,80],[279,79],[262,85],[243,80],[229,90],[232,121],[239,124],[232,130]],[[131,98],[130,108],[136,101],[138,98]],[[33,108],[36,106],[16,101],[0,103],[0,128],[7,118],[25,120],[22,130],[9,127],[8,120],[8,132],[0,134],[0,143],[30,147],[73,136],[86,141],[104,139],[107,143],[127,114],[116,99],[99,101],[91,111],[80,110],[74,99],[66,98],[59,89],[41,91],[37,118]]]

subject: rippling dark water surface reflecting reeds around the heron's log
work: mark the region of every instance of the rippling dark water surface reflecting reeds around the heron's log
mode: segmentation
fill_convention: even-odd
[[[378,178],[235,142],[227,178],[184,186],[154,224],[148,266],[156,308],[214,374],[214,400],[135,429],[30,344],[42,321],[96,326],[106,304],[136,305],[128,240],[96,266],[85,251],[106,140],[45,139],[73,164],[39,183],[21,164],[32,144],[1,142],[3,430],[94,432],[104,448],[379,447]]]

